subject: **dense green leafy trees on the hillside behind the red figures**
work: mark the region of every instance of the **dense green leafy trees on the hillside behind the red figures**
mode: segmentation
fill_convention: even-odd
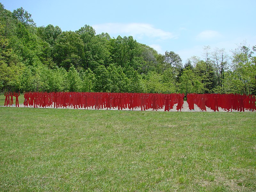
[[[132,36],[96,35],[37,27],[22,7],[0,3],[0,92],[149,92],[256,94],[256,46],[202,48],[185,65],[178,54],[159,54]]]

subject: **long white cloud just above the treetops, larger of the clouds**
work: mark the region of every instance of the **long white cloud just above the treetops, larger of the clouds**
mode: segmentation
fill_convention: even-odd
[[[153,25],[147,23],[105,23],[92,26],[96,33],[107,32],[110,35],[133,36],[134,38],[151,37],[158,39],[172,39],[175,36],[171,32],[164,31],[162,29],[154,28]]]

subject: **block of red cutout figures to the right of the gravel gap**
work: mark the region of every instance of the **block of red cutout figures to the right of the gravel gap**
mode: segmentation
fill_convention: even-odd
[[[239,95],[239,94],[196,94],[189,93],[187,95],[188,107],[194,109],[196,104],[202,111],[206,111],[206,107],[213,111],[219,111],[219,107],[225,111],[256,111],[255,95]]]

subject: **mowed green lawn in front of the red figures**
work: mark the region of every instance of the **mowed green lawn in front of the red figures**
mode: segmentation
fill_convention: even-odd
[[[256,113],[0,114],[0,191],[256,191]]]

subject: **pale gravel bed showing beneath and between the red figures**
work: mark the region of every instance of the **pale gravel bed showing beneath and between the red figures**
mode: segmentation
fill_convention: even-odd
[[[170,109],[170,112],[177,112],[176,110],[176,106],[177,104],[175,104],[173,106],[173,109]],[[195,104],[195,110],[189,110],[188,108],[188,102],[187,101],[184,101],[184,104],[183,104],[183,108],[181,109],[181,112],[202,112],[201,109],[199,107],[197,107],[197,105]],[[6,106],[0,106],[0,107],[6,107]],[[11,106],[11,107],[15,107],[15,106]],[[23,104],[20,104],[20,107],[24,107]],[[29,107],[29,108],[34,108],[34,107]],[[38,107],[38,108],[42,108],[42,107]],[[53,107],[46,107],[46,108],[53,108]],[[74,109],[73,107],[67,107],[69,109]],[[63,108],[60,108],[60,109],[63,109]],[[64,108],[66,109],[66,108]],[[78,108],[78,109],[84,109],[84,108]],[[86,108],[87,109],[87,108]],[[89,110],[95,110],[94,108],[88,108]],[[107,110],[107,108],[102,108],[102,109],[99,109],[99,110]],[[108,109],[109,110],[109,109]],[[111,108],[110,110],[118,110],[118,108]],[[132,109],[131,109],[132,110]],[[123,111],[129,111],[129,108],[123,108]],[[141,111],[141,108],[136,108],[136,109],[133,109],[133,111]],[[148,109],[146,111],[152,111],[152,109]],[[162,109],[158,109],[157,111],[164,111],[164,108]],[[252,112],[250,110],[244,110],[245,112]],[[168,111],[167,111],[168,112]],[[205,112],[205,111],[204,111]],[[214,112],[211,108],[208,108],[206,107],[206,112]],[[218,111],[216,111],[218,112]],[[219,108],[219,112],[227,112],[225,110],[223,110],[222,108]],[[236,110],[232,110],[232,112],[239,112],[239,111],[236,111]],[[255,112],[255,111],[254,111]]]

